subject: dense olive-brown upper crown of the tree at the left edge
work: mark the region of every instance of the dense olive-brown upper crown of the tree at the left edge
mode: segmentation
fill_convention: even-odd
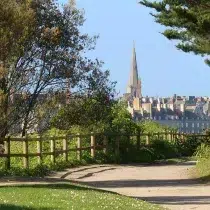
[[[0,1],[0,72],[8,74],[8,65],[21,56],[24,43],[29,40],[34,26],[34,11],[30,0]],[[1,69],[4,68],[4,69]],[[3,72],[4,70],[4,72]]]

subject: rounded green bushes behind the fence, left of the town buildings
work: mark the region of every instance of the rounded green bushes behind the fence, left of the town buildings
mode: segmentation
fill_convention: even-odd
[[[72,100],[52,119],[52,126],[82,133],[135,133],[140,127],[133,121],[126,105],[110,98],[110,94]]]

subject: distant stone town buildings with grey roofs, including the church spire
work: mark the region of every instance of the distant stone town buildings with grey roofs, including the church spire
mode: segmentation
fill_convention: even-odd
[[[133,119],[152,119],[178,128],[182,132],[197,133],[210,126],[210,97],[177,96],[143,97],[136,49],[133,45],[131,69],[123,100]]]

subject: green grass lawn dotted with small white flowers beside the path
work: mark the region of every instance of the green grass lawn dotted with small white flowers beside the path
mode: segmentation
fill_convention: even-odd
[[[97,189],[69,184],[0,187],[2,210],[163,210],[157,205]]]

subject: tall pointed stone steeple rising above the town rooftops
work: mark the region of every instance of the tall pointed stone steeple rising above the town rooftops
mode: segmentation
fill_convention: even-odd
[[[141,80],[138,78],[135,42],[133,42],[132,61],[127,93],[131,93],[133,97],[141,97]]]

